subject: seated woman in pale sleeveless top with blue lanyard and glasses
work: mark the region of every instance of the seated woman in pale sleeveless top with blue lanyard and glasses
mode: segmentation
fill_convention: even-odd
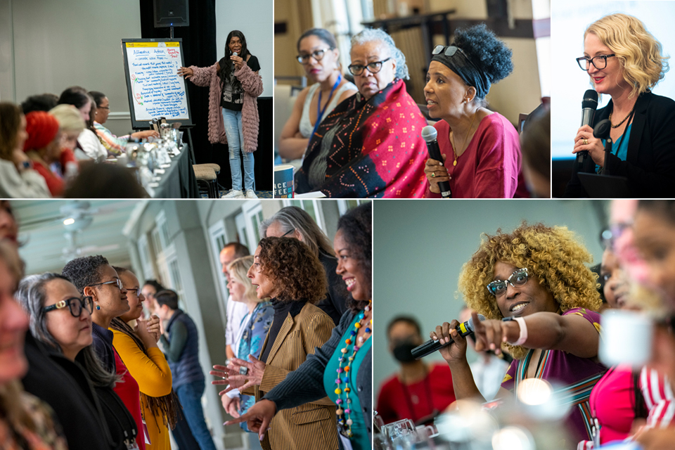
[[[314,84],[298,94],[293,113],[281,131],[279,155],[300,165],[309,137],[338,103],[356,94],[356,86],[342,77],[340,50],[335,37],[323,28],[312,28],[297,40],[297,62]]]

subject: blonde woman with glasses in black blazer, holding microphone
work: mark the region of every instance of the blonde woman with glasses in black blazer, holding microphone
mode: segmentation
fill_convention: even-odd
[[[589,125],[577,131],[572,153],[586,150],[605,174],[626,177],[634,197],[675,196],[675,101],[650,91],[668,70],[666,59],[659,41],[626,14],[592,23],[584,35],[584,56],[577,58],[593,89],[612,98],[593,121],[594,127],[610,120],[612,153],[603,167],[605,143],[593,137]],[[565,196],[589,196],[576,174]]]

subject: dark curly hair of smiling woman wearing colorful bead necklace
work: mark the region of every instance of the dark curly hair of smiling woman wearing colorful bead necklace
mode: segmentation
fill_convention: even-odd
[[[371,297],[373,279],[373,203],[349,210],[338,220],[338,231],[349,245],[349,252],[359,262],[359,267],[368,279],[368,297]],[[349,294],[348,306],[352,311],[360,311],[366,307],[366,300],[354,300]]]

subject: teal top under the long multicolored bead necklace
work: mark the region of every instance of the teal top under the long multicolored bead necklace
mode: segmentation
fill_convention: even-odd
[[[354,320],[352,321],[351,325],[347,327],[345,334],[342,335],[340,345],[338,345],[338,347],[335,349],[335,352],[333,353],[333,356],[331,356],[328,360],[328,364],[326,364],[326,371],[323,372],[323,386],[326,388],[328,398],[333,400],[335,404],[338,404],[338,394],[335,394],[335,388],[337,387],[335,384],[335,378],[338,377],[338,368],[340,367],[340,361],[338,361],[338,358],[342,356],[342,348],[347,346],[345,344],[345,340],[347,340],[347,338],[352,338],[351,332],[354,330],[354,323],[359,321],[359,316],[360,314],[356,314],[356,316],[354,316]],[[352,448],[354,450],[366,450],[372,449],[373,447],[371,445],[371,439],[368,438],[368,431],[366,430],[366,423],[364,422],[361,402],[359,401],[359,396],[356,394],[356,373],[359,373],[361,363],[364,362],[364,358],[366,354],[368,354],[368,350],[371,349],[372,341],[373,340],[371,338],[368,338],[366,342],[364,342],[364,345],[362,345],[359,350],[356,351],[356,355],[354,356],[354,361],[352,361],[352,364],[349,364],[350,369],[348,385],[349,389],[351,390],[351,392],[349,392],[349,406],[338,404],[338,406],[340,406],[342,409],[349,407],[349,409],[352,410],[352,413],[345,414],[345,416],[352,419],[353,436],[351,439],[349,439],[349,441],[352,442]],[[352,346],[349,346],[349,352],[347,352],[347,355],[352,355]],[[342,366],[344,367],[345,364]],[[344,374],[344,372],[342,372],[340,375],[342,374]],[[344,383],[341,383],[340,387],[342,387],[342,390],[344,390]],[[342,397],[342,400],[344,401],[345,394],[340,394],[340,397]]]

